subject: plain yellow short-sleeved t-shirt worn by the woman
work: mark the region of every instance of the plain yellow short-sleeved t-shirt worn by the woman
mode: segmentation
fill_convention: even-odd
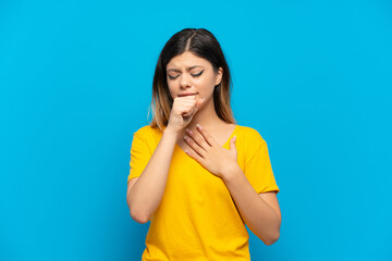
[[[266,141],[250,127],[236,125],[237,162],[256,192],[279,188]],[[130,181],[142,174],[162,132],[144,126],[133,137]],[[162,200],[150,219],[142,260],[250,260],[248,233],[222,178],[175,144]]]

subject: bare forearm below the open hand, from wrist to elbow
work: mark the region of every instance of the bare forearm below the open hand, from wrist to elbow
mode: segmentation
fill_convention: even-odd
[[[280,220],[274,210],[255,191],[238,165],[223,175],[223,181],[250,231],[266,245],[280,234]]]

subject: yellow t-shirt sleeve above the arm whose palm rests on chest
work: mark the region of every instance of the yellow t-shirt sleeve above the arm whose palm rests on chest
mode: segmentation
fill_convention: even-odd
[[[267,142],[259,136],[257,149],[245,161],[245,175],[257,194],[280,191],[273,176]]]

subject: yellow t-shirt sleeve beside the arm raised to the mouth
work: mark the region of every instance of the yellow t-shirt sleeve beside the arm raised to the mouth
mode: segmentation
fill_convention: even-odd
[[[147,141],[136,132],[132,140],[130,175],[127,182],[133,177],[140,176],[150,158],[151,151]]]

